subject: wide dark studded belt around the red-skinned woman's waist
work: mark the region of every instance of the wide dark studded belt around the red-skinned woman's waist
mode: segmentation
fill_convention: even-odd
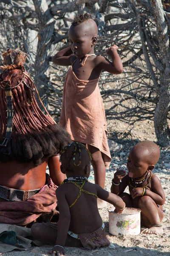
[[[28,198],[35,195],[39,191],[40,189],[24,191],[20,189],[11,189],[0,185],[0,198],[7,201],[27,201]]]

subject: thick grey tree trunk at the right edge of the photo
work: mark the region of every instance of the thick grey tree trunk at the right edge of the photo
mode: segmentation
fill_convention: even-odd
[[[160,72],[160,93],[154,114],[154,127],[159,145],[165,147],[170,144],[170,128],[167,122],[167,114],[170,111],[170,41],[161,0],[151,0],[151,5],[157,28],[161,62],[164,65],[164,70]]]

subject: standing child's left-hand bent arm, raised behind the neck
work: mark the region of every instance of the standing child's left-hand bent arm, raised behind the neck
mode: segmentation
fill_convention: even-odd
[[[59,66],[70,66],[72,64],[71,59],[75,58],[72,54],[73,52],[69,46],[57,52],[54,57],[52,57],[52,61]]]

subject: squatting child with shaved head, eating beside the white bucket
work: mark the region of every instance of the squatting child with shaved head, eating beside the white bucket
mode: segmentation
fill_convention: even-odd
[[[149,234],[163,232],[165,195],[159,178],[152,173],[159,157],[159,147],[152,141],[136,144],[128,156],[128,175],[123,169],[117,169],[111,186],[111,192],[119,195],[127,207],[141,209],[143,225],[148,227],[144,233]],[[130,195],[124,192],[127,186]]]

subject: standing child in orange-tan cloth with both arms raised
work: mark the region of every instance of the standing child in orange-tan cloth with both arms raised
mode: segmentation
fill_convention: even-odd
[[[65,79],[59,125],[71,139],[88,145],[92,154],[95,183],[105,187],[105,167],[111,162],[106,137],[105,110],[98,81],[102,70],[112,74],[123,72],[118,47],[106,50],[112,62],[94,54],[98,29],[91,15],[77,16],[68,32],[70,46],[57,52],[52,61],[71,69]]]

